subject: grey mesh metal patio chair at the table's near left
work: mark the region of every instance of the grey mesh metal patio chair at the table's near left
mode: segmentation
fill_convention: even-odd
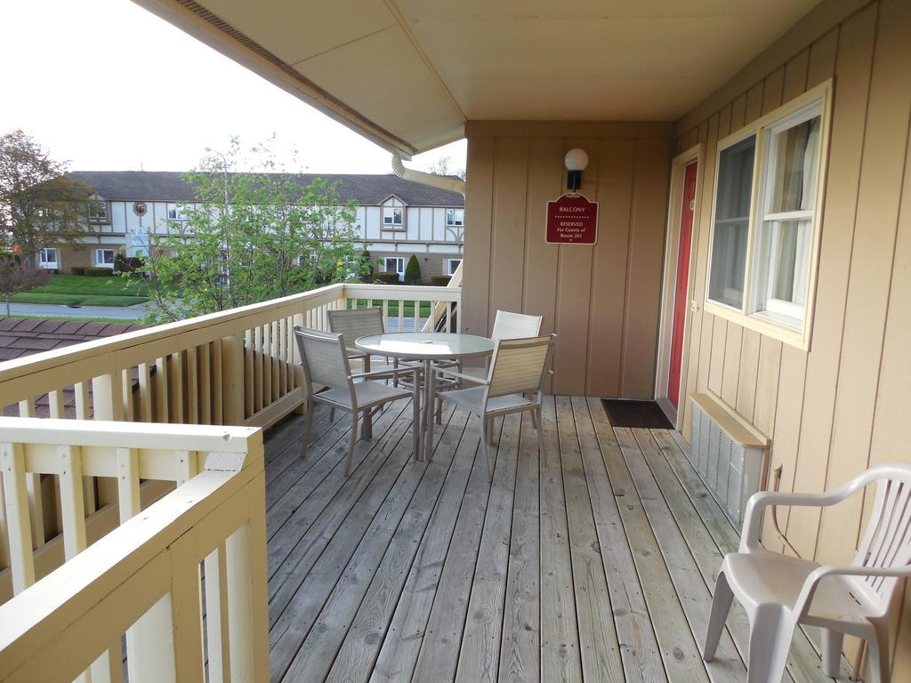
[[[345,462],[345,476],[351,474],[351,465],[354,456],[354,446],[357,443],[358,414],[363,411],[373,410],[374,407],[384,403],[398,401],[399,399],[412,398],[414,401],[414,428],[413,448],[415,457],[418,454],[420,443],[419,420],[419,382],[417,369],[407,371],[413,374],[411,391],[387,386],[383,382],[375,381],[377,378],[388,378],[387,372],[351,372],[348,362],[348,353],[343,334],[333,334],[319,330],[311,330],[296,325],[294,337],[297,339],[301,351],[303,365],[304,386],[307,391],[307,425],[303,434],[301,454],[306,454],[310,444],[313,429],[314,403],[325,403],[330,409],[339,409],[351,413],[351,437],[348,443],[348,457]],[[354,380],[363,380],[354,382]],[[322,384],[325,390],[313,392],[313,384]],[[364,434],[369,438],[370,434]]]

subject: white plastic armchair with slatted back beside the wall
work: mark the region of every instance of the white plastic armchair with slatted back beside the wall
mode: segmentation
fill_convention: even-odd
[[[876,484],[870,521],[850,566],[820,566],[759,545],[763,510],[828,507]],[[838,675],[844,634],[864,638],[880,683],[889,680],[888,608],[898,580],[911,576],[911,465],[884,464],[823,494],[754,494],[740,551],[724,557],[715,583],[703,658],[711,661],[733,597],[750,619],[748,683],[782,679],[794,629],[820,627],[823,671]]]

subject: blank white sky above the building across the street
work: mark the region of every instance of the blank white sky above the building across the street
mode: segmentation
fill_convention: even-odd
[[[129,0],[0,2],[0,134],[74,170],[186,170],[206,147],[278,136],[289,170],[388,173],[390,154]],[[465,168],[465,140],[415,157]],[[287,161],[288,159],[282,159]]]

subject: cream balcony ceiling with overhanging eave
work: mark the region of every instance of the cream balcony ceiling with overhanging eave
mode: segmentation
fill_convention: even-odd
[[[137,0],[405,155],[467,120],[672,120],[818,0]]]

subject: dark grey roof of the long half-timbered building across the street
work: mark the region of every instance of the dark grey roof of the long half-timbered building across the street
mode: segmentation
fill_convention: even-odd
[[[97,189],[110,201],[193,201],[193,186],[180,171],[72,171],[72,178]],[[432,188],[393,174],[299,173],[292,178],[302,187],[316,178],[338,183],[338,199],[359,205],[379,205],[389,195],[406,204],[431,207],[464,207],[458,192]]]

